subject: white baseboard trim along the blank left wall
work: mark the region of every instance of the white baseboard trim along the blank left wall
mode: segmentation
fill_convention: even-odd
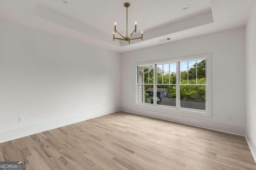
[[[55,129],[58,127],[70,125],[80,121],[85,121],[95,117],[107,115],[110,113],[114,113],[116,111],[120,111],[120,106],[104,108],[96,111],[89,111],[83,114],[77,114],[69,117],[63,117],[60,119],[45,121],[45,122],[37,123],[34,125],[28,125],[28,126],[16,128],[16,129],[8,129],[6,131],[0,131],[0,143],[11,141],[13,139],[18,139],[20,137],[33,135],[43,131],[48,131],[50,129]]]

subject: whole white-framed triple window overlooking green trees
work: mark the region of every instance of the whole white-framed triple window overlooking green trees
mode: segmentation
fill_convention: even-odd
[[[211,116],[210,54],[136,64],[136,69],[136,104]]]

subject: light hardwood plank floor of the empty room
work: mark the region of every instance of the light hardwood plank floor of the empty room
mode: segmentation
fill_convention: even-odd
[[[242,136],[117,112],[0,144],[26,170],[256,170]]]

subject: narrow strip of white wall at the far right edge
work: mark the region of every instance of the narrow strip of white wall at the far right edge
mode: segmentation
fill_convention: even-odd
[[[256,4],[246,24],[246,139],[256,160]]]

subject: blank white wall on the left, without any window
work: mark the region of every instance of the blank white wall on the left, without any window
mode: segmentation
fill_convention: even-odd
[[[0,19],[0,143],[120,110],[119,70],[118,53]]]

